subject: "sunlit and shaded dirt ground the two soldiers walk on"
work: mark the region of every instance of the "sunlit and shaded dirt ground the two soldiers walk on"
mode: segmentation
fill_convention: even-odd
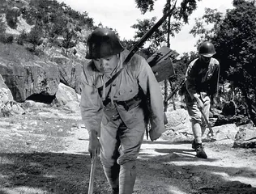
[[[79,112],[29,108],[0,118],[0,194],[87,193],[91,158]],[[256,193],[256,150],[232,140],[204,142],[208,159],[195,157],[190,141],[146,138],[134,193]],[[109,193],[97,160],[95,193]]]

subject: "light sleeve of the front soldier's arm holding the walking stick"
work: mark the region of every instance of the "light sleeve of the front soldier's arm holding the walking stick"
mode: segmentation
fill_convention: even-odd
[[[87,74],[83,70],[81,74],[81,101],[80,110],[83,123],[88,132],[95,130],[100,136],[100,124],[103,116],[103,105],[98,89],[90,85]]]

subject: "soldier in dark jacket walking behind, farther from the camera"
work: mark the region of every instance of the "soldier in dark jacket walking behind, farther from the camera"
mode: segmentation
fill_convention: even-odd
[[[209,118],[210,106],[214,103],[218,91],[220,65],[212,56],[215,54],[214,45],[205,41],[198,48],[199,57],[190,62],[186,70],[186,106],[191,117],[194,141],[192,148],[198,158],[207,158],[203,149],[202,136],[207,124],[201,109]]]

